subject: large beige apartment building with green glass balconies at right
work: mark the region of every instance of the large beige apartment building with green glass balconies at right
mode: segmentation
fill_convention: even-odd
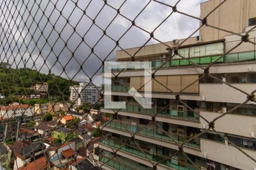
[[[211,0],[201,3],[201,19],[220,2]],[[207,21],[214,27],[245,35],[246,31],[255,27],[250,25],[255,23],[251,22],[256,18],[254,7],[256,1],[226,1],[209,15]],[[256,42],[255,28],[250,31],[249,40]],[[176,47],[183,41],[164,44]],[[126,101],[126,108],[121,109],[118,116],[115,114],[117,110],[101,109],[109,120],[113,120],[101,122],[107,137],[101,139],[100,143],[100,162],[105,163],[102,168],[153,169],[152,163],[159,163],[157,169],[197,169],[189,158],[200,169],[254,169],[256,163],[253,160],[212,129],[195,137],[208,128],[205,120],[212,121],[246,101],[247,95],[233,87],[247,94],[255,90],[256,46],[243,42],[236,47],[240,42],[241,36],[203,26],[200,36],[184,41],[177,50],[193,63],[174,55],[176,51],[174,53],[164,44],[147,45],[140,50],[118,50],[116,61],[130,61],[130,56],[135,54],[135,61],[151,61],[152,70],[159,70],[152,80],[151,109],[141,107],[127,92],[134,87],[144,94],[144,71],[127,69],[119,74],[122,69],[112,70],[114,75],[118,74],[118,80],[114,77],[112,79],[112,101]],[[173,58],[168,61],[170,56]],[[195,63],[204,68],[213,63],[209,73],[217,79],[209,75],[200,78],[204,70],[195,66]],[[176,96],[174,92],[180,92],[180,95]],[[218,133],[251,158],[256,158],[255,109],[256,103],[249,101],[236,111],[219,118],[214,124]],[[134,139],[131,138],[132,134],[135,134]],[[175,154],[179,150],[177,143],[181,144],[188,139],[191,140],[183,146],[187,157]],[[112,159],[116,150],[117,158]],[[172,154],[175,156],[168,158]]]

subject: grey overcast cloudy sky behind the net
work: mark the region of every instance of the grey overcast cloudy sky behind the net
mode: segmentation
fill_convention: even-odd
[[[174,5],[176,1],[169,0],[162,2]],[[177,9],[199,17],[200,2],[202,1],[181,0],[179,5],[177,5]],[[75,2],[77,2],[77,7]],[[118,15],[114,20],[113,18],[117,14],[117,11],[107,5],[104,6],[104,1],[94,0],[91,3],[89,2],[87,0],[24,0],[23,2],[1,2],[1,61],[6,61],[6,58],[4,58],[6,53],[9,63],[15,61],[12,65],[13,67],[24,67],[23,63],[26,63],[26,67],[40,70],[42,73],[48,74],[50,69],[56,75],[73,78],[78,81],[86,81],[88,80],[88,76],[95,74],[93,76],[93,83],[100,85],[102,83],[101,60],[105,59],[109,54],[107,59],[113,59],[116,50],[119,49],[115,48],[115,42],[112,39],[118,40],[127,31],[131,26],[131,22],[126,18],[134,20],[135,16],[141,12],[149,1],[127,0],[123,3],[124,1],[108,0],[108,4],[116,9],[123,4],[120,14],[126,16],[126,18]],[[27,6],[27,10],[25,5]],[[54,8],[54,5],[56,5],[56,8]],[[28,12],[28,10],[31,12]],[[96,18],[96,25],[84,14],[84,10],[90,18]],[[101,12],[98,14],[100,10]],[[19,14],[18,11],[20,12]],[[61,14],[59,11],[61,11]],[[135,23],[139,27],[146,29],[146,31],[151,32],[171,12],[170,7],[150,1],[149,5],[135,19]],[[34,21],[33,17],[35,19]],[[49,18],[49,22],[47,18]],[[67,20],[69,22],[68,24]],[[112,24],[109,25],[112,20]],[[73,27],[76,28],[75,33]],[[108,27],[106,34],[112,39],[104,36],[102,30],[98,27],[102,29]],[[198,20],[174,13],[156,29],[154,36],[161,41],[181,39],[189,36],[198,27]],[[28,28],[30,31],[28,31]],[[84,37],[86,43],[82,42],[80,44],[81,37]],[[119,41],[119,45],[122,48],[141,46],[149,37],[148,33],[137,27],[132,27]],[[46,38],[48,40],[47,42]],[[98,40],[100,41],[98,42]],[[37,44],[35,44],[36,41]],[[17,45],[15,45],[15,42]],[[65,42],[67,42],[67,46],[65,46]],[[148,44],[153,43],[156,43],[156,41],[151,40],[148,42]],[[95,54],[91,54],[91,48],[93,46]],[[39,53],[40,50],[41,54]],[[113,52],[110,53],[112,50]],[[72,57],[72,53],[74,57]],[[57,57],[59,58],[59,62],[56,62]],[[44,64],[44,60],[46,64]],[[35,63],[35,66],[33,63]],[[82,71],[79,71],[80,65],[82,65]],[[65,67],[65,73],[62,73],[63,67]],[[98,69],[100,70],[97,71]],[[78,71],[79,73],[77,73]]]

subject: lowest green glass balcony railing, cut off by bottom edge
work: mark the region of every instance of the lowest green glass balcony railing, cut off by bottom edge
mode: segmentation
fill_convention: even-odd
[[[110,167],[113,167],[115,169],[120,169],[120,170],[136,170],[126,164],[123,164],[123,163],[119,163],[117,162],[116,160],[113,160],[112,158],[108,158],[107,156],[104,156],[104,155],[100,155],[100,162],[102,163],[105,163],[107,165],[109,165]]]

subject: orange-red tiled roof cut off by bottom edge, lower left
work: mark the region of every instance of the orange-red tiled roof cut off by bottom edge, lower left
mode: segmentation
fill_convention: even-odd
[[[46,157],[43,156],[39,159],[34,160],[33,162],[24,165],[23,167],[18,168],[19,170],[35,170],[35,169],[47,169],[48,163]]]

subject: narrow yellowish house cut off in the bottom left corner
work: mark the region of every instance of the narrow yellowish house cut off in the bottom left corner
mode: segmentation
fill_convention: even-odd
[[[5,169],[10,168],[11,162],[11,150],[5,143],[0,143],[0,168],[3,167]]]

